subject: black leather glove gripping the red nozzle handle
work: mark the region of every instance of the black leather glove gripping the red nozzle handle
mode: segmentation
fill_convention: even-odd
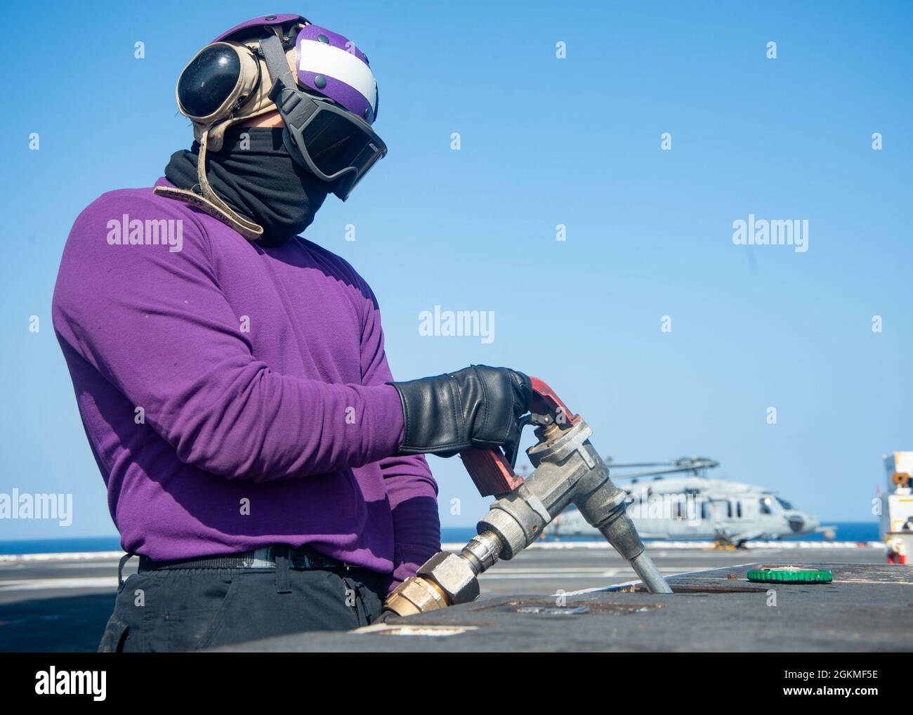
[[[472,365],[456,373],[390,383],[403,401],[398,454],[453,457],[467,447],[519,447],[519,418],[530,406],[530,378],[506,367]]]

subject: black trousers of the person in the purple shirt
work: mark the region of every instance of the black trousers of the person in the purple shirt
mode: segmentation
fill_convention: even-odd
[[[187,651],[367,626],[389,577],[367,569],[166,569],[118,589],[100,652]]]

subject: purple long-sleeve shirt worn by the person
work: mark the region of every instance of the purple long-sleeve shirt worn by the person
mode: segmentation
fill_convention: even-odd
[[[395,583],[439,549],[425,458],[393,456],[377,300],[342,258],[113,191],[70,232],[53,317],[125,550],[309,544]]]

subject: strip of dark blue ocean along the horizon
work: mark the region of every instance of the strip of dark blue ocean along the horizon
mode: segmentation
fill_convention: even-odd
[[[877,521],[835,521],[836,541],[838,542],[877,542],[880,541]],[[473,526],[449,526],[441,529],[442,542],[467,542],[476,535]],[[593,541],[592,536],[564,537],[563,542]],[[821,533],[791,536],[784,542],[821,542]],[[0,541],[0,554],[17,553],[74,553],[74,552],[116,552],[121,551],[121,539],[118,536],[86,536],[68,539],[29,539]]]

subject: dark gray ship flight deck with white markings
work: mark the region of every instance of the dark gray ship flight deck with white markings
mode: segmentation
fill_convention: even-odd
[[[449,550],[460,546],[445,544]],[[710,546],[704,542],[648,545],[660,571],[671,578],[677,593],[686,596],[682,599],[600,590],[636,580],[630,566],[604,542],[540,542],[516,560],[499,562],[482,574],[477,603],[397,621],[417,626],[449,624],[454,629],[432,628],[425,633],[410,626],[398,632],[403,635],[454,637],[304,634],[237,649],[913,649],[913,608],[908,603],[913,602],[913,573],[910,566],[888,566],[882,544],[752,542],[749,548],[731,550]],[[120,556],[119,552],[0,556],[0,651],[95,650],[113,606]],[[834,584],[778,586],[779,603],[771,607],[768,589],[745,580],[744,564],[749,563],[836,564],[829,566]],[[125,575],[133,573],[135,564],[136,559],[131,560]],[[701,584],[712,587],[704,589]],[[829,603],[836,609],[830,617]],[[887,627],[888,620],[876,617],[901,605],[905,606],[900,608],[902,613],[892,615],[906,619],[903,627],[898,627],[897,620]],[[687,614],[677,614],[681,609]],[[593,615],[606,614],[626,617],[593,620]],[[687,634],[671,636],[663,630],[686,615]],[[803,636],[801,643],[791,641],[792,620],[808,622],[810,617],[831,626],[822,626],[811,639]],[[510,626],[512,619],[520,618],[523,628]],[[528,627],[530,620],[536,628]],[[498,626],[501,622],[498,644],[479,641],[479,623]],[[879,622],[886,626],[877,626]],[[599,627],[589,633],[593,625]],[[555,628],[569,629],[569,639],[555,640]],[[647,634],[644,628],[658,630]]]

